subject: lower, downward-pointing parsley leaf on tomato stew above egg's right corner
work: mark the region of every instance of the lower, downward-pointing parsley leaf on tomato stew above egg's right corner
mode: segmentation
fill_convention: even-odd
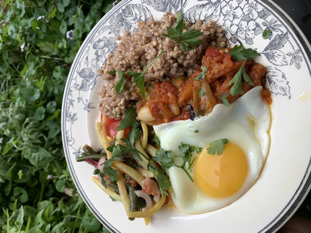
[[[234,77],[230,80],[230,82],[226,86],[226,87],[229,87],[232,83],[234,84],[230,88],[230,94],[232,96],[235,96],[237,94],[242,94],[242,74],[243,74],[244,80],[246,82],[248,82],[249,85],[254,86],[252,80],[250,79],[250,77],[248,76],[248,74],[245,71],[244,64],[245,64],[246,60],[247,59],[244,60],[243,65],[240,67],[239,71],[234,75]]]

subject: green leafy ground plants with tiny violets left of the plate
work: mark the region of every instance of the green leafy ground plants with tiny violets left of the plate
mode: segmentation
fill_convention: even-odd
[[[113,0],[0,1],[2,232],[109,232],[76,192],[60,113],[71,63],[112,6]],[[310,219],[310,208],[309,195],[299,214]]]

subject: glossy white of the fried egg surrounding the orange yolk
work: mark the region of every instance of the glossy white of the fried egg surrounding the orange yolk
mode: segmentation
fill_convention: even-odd
[[[262,99],[261,91],[262,87],[258,86],[230,106],[217,104],[210,114],[194,121],[173,121],[154,126],[161,147],[172,150],[174,155],[179,154],[181,142],[205,148],[214,140],[227,138],[244,151],[248,161],[244,184],[235,194],[226,198],[213,198],[198,188],[194,177],[195,166],[191,173],[193,183],[180,168],[169,168],[174,190],[171,198],[181,212],[196,214],[225,207],[242,196],[257,180],[270,143],[270,109]],[[199,132],[195,133],[195,130]],[[195,152],[193,155],[196,155]],[[180,157],[174,158],[174,161],[182,164]]]

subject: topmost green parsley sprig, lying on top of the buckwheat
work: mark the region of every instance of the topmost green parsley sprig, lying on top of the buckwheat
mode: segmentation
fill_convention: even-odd
[[[178,12],[177,21],[174,23],[175,28],[166,27],[167,34],[162,35],[177,41],[181,44],[183,51],[189,50],[191,47],[196,47],[199,44],[204,43],[204,40],[198,39],[198,36],[203,35],[200,30],[191,29],[187,32],[183,32],[186,24],[183,22],[183,13]]]

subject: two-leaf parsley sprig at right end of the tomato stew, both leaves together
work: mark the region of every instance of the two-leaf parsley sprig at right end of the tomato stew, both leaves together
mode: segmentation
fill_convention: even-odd
[[[226,87],[229,87],[231,84],[234,84],[230,88],[230,94],[232,96],[235,96],[237,94],[242,94],[242,75],[246,82],[248,82],[249,85],[254,86],[252,80],[248,76],[248,74],[245,71],[245,62],[247,59],[253,60],[253,56],[260,56],[259,53],[257,53],[256,50],[253,50],[251,48],[243,49],[243,45],[235,45],[232,50],[230,51],[230,54],[236,61],[242,61],[244,60],[242,66],[240,67],[239,71],[234,75],[233,79],[230,80],[228,85]]]

